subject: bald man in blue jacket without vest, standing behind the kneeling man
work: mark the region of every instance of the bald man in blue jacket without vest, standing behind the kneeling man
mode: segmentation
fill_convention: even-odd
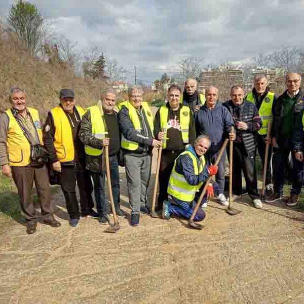
[[[206,89],[206,103],[197,112],[195,125],[197,135],[207,134],[209,136],[211,145],[206,158],[209,162],[214,163],[225,138],[229,136],[234,126],[231,113],[218,102],[218,89],[216,87]],[[230,139],[235,139],[234,133],[230,134]],[[223,206],[228,206],[227,199],[224,196],[225,159],[226,154],[224,153],[218,163],[216,174],[216,182],[218,183],[217,201]]]

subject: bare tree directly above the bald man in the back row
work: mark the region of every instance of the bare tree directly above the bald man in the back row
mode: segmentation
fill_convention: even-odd
[[[186,80],[187,78],[198,79],[203,70],[203,57],[184,57],[178,62],[180,68],[180,78]]]

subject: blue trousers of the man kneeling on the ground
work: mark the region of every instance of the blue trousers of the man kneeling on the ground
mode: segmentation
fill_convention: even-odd
[[[200,190],[201,191],[203,190],[203,186],[201,187]],[[192,201],[192,202],[184,202],[184,201],[181,201],[181,200],[171,196],[171,200],[169,200],[169,202],[171,202],[171,204],[168,206],[170,214],[174,214],[176,216],[189,219],[193,213],[193,210],[196,206],[196,203],[197,203],[197,200],[199,198],[201,191],[196,195],[194,201]],[[213,191],[215,194],[218,194],[218,184],[217,183],[213,183]],[[207,201],[207,193],[204,195],[201,205],[204,204],[206,201]],[[201,221],[205,218],[205,216],[206,216],[205,211],[199,208],[194,217],[194,220]]]

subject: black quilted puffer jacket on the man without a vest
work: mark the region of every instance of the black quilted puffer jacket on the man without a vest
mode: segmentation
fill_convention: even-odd
[[[232,100],[226,101],[223,103],[223,106],[225,106],[233,116],[234,104]],[[255,133],[262,127],[262,120],[259,117],[256,106],[253,103],[244,100],[240,105],[240,117],[233,117],[233,119],[238,119],[247,124],[247,130],[238,130],[238,132],[241,133],[247,154],[250,156],[254,155],[256,151]]]

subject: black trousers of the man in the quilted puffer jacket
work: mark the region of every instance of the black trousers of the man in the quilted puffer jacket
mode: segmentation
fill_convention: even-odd
[[[228,158],[230,156],[229,148],[227,148]],[[248,155],[244,143],[236,143],[233,145],[233,174],[232,174],[232,192],[235,195],[242,193],[242,171],[246,181],[246,190],[251,197],[258,197],[257,192],[257,176],[255,169],[255,154]]]

